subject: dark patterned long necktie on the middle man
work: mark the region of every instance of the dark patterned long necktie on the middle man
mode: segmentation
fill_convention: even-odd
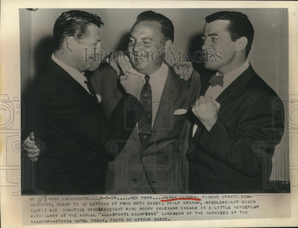
[[[149,75],[145,75],[145,84],[141,93],[139,109],[137,112],[139,135],[148,142],[152,130],[152,91],[149,84]]]

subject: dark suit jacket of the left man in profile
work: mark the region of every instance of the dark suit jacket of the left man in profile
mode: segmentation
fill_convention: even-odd
[[[128,139],[131,130],[124,129],[125,122],[135,126],[134,110],[127,110],[125,119],[128,96],[124,94],[106,121],[102,104],[49,59],[34,101],[34,135],[44,143],[36,162],[37,190],[45,194],[104,193],[108,158],[113,158],[105,145]]]

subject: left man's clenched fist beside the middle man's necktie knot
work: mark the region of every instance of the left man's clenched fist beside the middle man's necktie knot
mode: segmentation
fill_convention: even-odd
[[[130,72],[125,72],[124,76],[120,76],[120,83],[123,86],[126,93],[129,93],[135,97],[138,97],[145,84],[141,76]]]

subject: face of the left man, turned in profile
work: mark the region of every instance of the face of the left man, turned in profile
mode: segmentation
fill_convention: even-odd
[[[88,35],[86,38],[74,41],[75,44],[74,50],[72,51],[72,59],[75,64],[75,67],[79,71],[86,71],[92,68],[92,61],[94,60],[93,55],[87,55],[85,57],[85,49],[83,48],[88,48],[88,54],[93,54],[92,48],[97,48],[97,54],[99,54],[99,51],[101,50],[100,28],[95,25],[89,25],[87,33]]]

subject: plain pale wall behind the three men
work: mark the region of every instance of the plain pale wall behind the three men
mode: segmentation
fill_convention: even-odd
[[[62,12],[71,9],[20,9],[21,98],[26,102],[26,138],[32,131],[30,100],[34,80],[52,54],[52,29]],[[99,15],[105,26],[101,29],[102,48],[126,50],[128,34],[137,15],[146,9],[80,9]],[[150,9],[168,17],[174,25],[174,53],[200,48],[205,17],[223,9]],[[254,41],[249,62],[261,78],[279,96],[288,97],[288,11],[287,9],[224,9],[238,11],[249,17],[254,27]],[[173,65],[173,64],[172,64]],[[196,67],[196,65],[194,65]],[[97,66],[95,65],[94,68]],[[94,69],[93,68],[93,69]],[[279,163],[288,164],[288,156],[279,155]],[[278,173],[278,176],[285,174]],[[280,178],[279,178],[280,179]],[[284,179],[284,178],[283,178]],[[288,177],[287,177],[288,179]]]

